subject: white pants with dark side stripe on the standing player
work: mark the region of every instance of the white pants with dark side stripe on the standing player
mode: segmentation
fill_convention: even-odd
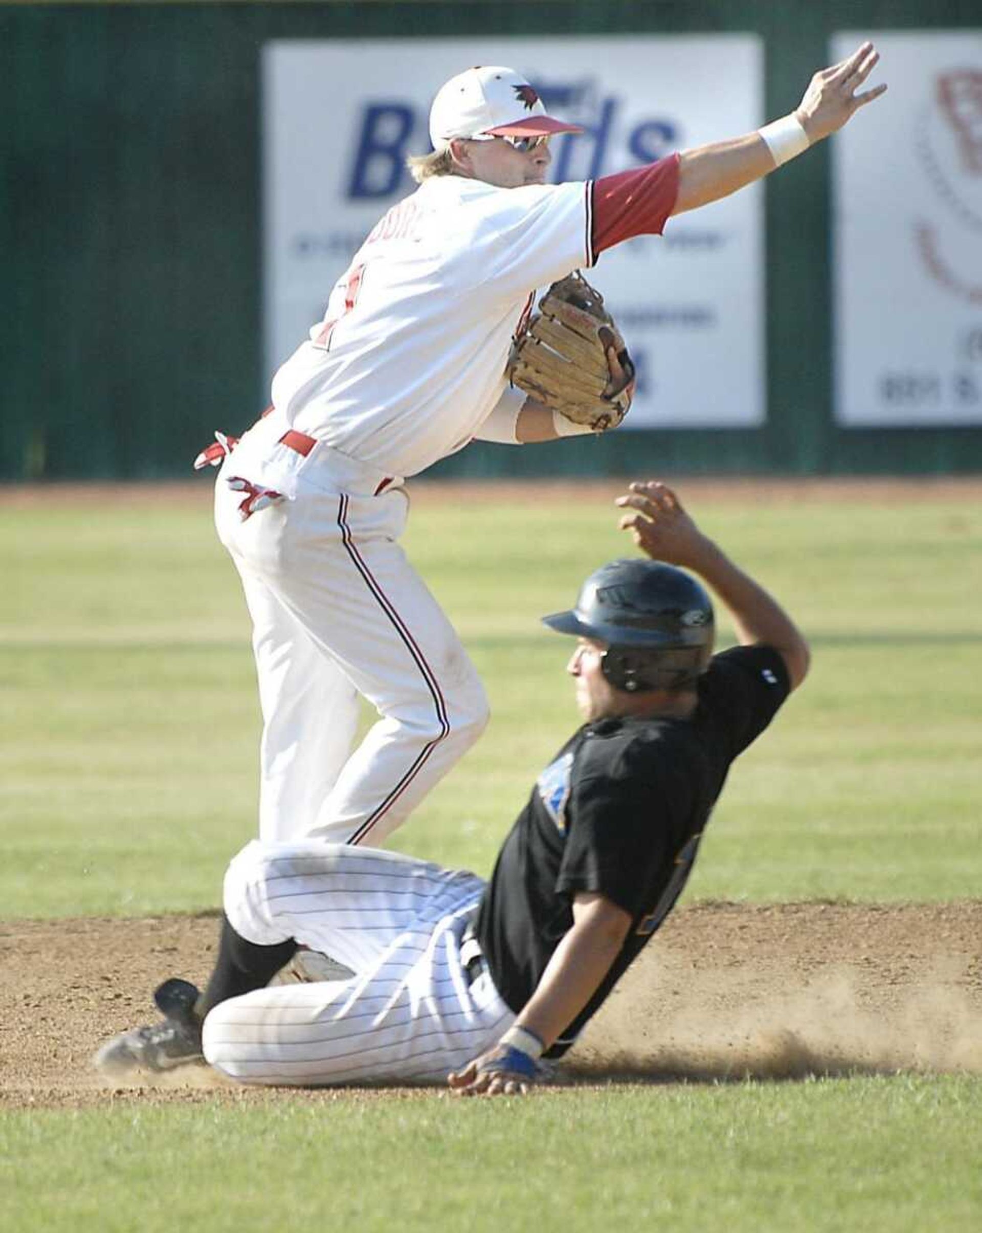
[[[376,472],[323,445],[299,457],[270,435],[272,420],[243,438],[216,486],[216,526],[253,618],[259,834],[381,843],[484,730],[487,698],[397,543],[400,481],[375,496]],[[243,520],[228,478],[271,466],[291,499]],[[379,719],[351,753],[359,694]]]

